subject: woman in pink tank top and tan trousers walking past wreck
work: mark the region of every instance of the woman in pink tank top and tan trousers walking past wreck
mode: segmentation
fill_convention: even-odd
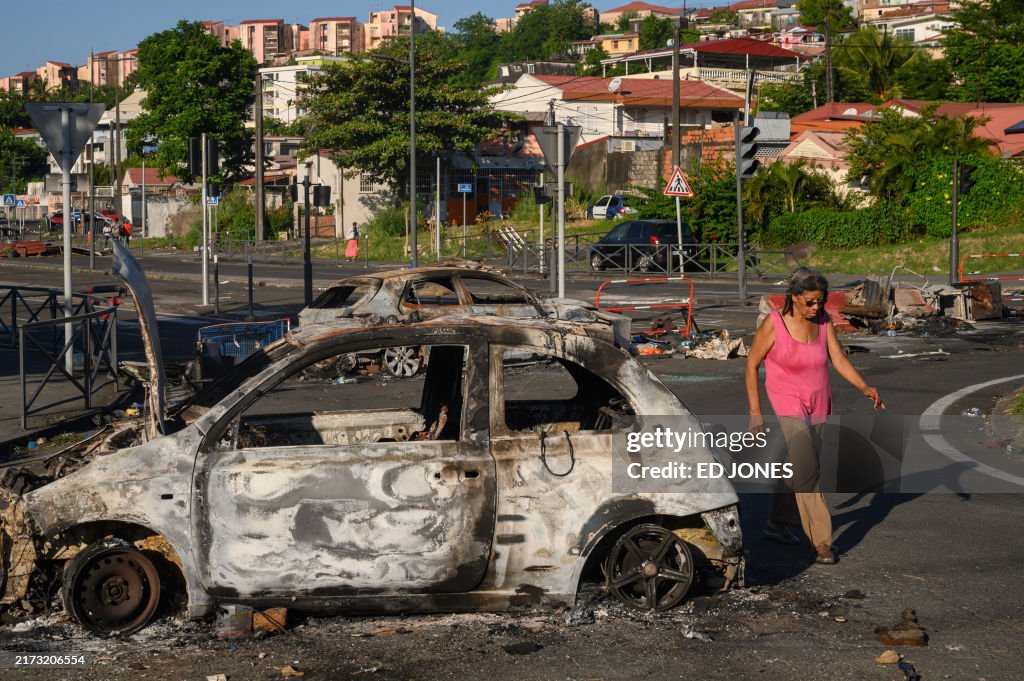
[[[799,544],[791,526],[801,525],[819,563],[836,562],[831,515],[818,485],[821,433],[833,412],[828,361],[839,375],[885,409],[878,388],[867,385],[847,358],[825,312],[828,282],[821,272],[800,267],[790,280],[782,311],[772,310],[761,325],[746,357],[746,399],[752,432],[764,429],[758,370],[765,365],[765,391],[778,417],[794,476],[787,492],[776,493],[765,537]]]

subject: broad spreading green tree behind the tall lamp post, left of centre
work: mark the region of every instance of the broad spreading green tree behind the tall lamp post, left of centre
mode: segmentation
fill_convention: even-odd
[[[532,12],[530,12],[532,13]],[[416,41],[416,148],[432,170],[435,153],[471,153],[477,143],[501,135],[510,114],[495,112],[488,88],[458,87],[463,68]],[[387,41],[378,57],[355,55],[327,65],[305,79],[302,105],[309,112],[308,151],[333,150],[335,162],[395,189],[404,188],[409,165],[409,39]],[[429,165],[429,168],[427,167]]]

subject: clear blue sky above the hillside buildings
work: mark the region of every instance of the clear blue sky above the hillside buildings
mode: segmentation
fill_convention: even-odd
[[[511,16],[521,0],[423,0],[418,6],[440,16],[440,25],[453,24],[477,11],[492,17]],[[628,0],[592,2],[609,9]],[[90,50],[126,50],[143,38],[172,28],[179,19],[219,20],[238,24],[247,18],[283,18],[308,24],[317,16],[355,16],[367,20],[368,13],[387,9],[406,0],[5,0],[0,4],[0,77],[34,71],[47,59],[82,66]],[[681,0],[654,2],[670,7]],[[689,5],[698,4],[692,0]],[[700,3],[707,4],[707,3]]]

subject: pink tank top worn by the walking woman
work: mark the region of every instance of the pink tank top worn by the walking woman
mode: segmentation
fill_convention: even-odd
[[[827,317],[818,324],[818,338],[802,343],[790,335],[782,315],[771,311],[775,343],[765,357],[765,390],[775,416],[824,423],[831,414],[828,383]]]

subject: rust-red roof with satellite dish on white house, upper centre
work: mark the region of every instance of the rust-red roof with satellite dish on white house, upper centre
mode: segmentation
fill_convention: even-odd
[[[577,76],[531,76],[562,91],[563,99],[618,101],[633,105],[672,105],[672,81],[653,78],[623,78],[617,92],[608,92],[611,78]],[[741,109],[743,98],[725,88],[703,81],[679,81],[682,107],[705,109]]]

